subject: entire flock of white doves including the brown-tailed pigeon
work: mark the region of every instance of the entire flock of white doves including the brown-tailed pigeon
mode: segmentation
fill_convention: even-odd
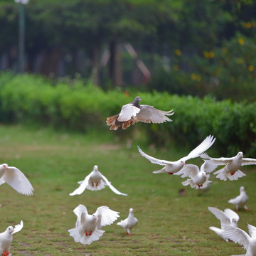
[[[156,123],[160,124],[163,122],[171,122],[169,117],[174,114],[173,110],[162,111],[149,105],[139,105],[141,98],[135,97],[134,101],[122,106],[122,110],[119,114],[112,117],[107,117],[107,125],[110,129],[117,130],[119,127],[127,129],[131,124],[136,122]],[[226,181],[227,178],[230,181],[237,180],[238,178],[245,176],[240,171],[240,166],[256,164],[256,159],[244,158],[242,152],[238,152],[236,156],[225,158],[212,158],[206,154],[206,150],[210,148],[215,142],[215,138],[211,135],[201,142],[195,149],[193,149],[187,156],[184,156],[177,161],[166,161],[156,159],[153,156],[149,156],[144,153],[138,146],[139,153],[142,154],[146,159],[151,161],[152,164],[159,164],[164,166],[158,171],[153,171],[154,174],[167,173],[180,175],[181,178],[187,178],[183,181],[183,186],[191,186],[191,188],[207,190],[210,186],[211,181],[209,180],[210,173],[215,171],[218,166],[223,168],[218,169],[213,174],[216,178]],[[186,164],[186,161],[200,156],[204,163],[199,169],[194,164]],[[8,183],[9,186],[14,188],[18,193],[22,193],[26,196],[33,194],[33,186],[28,181],[28,178],[16,167],[8,166],[8,164],[0,165],[0,185],[2,183]],[[121,193],[112,186],[112,183],[107,180],[98,170],[98,166],[94,166],[93,171],[88,174],[83,181],[78,181],[79,187],[75,189],[70,196],[80,195],[85,189],[91,191],[100,191],[105,186],[108,186],[117,195],[127,196],[126,193]],[[228,203],[233,203],[235,209],[243,207],[248,210],[245,203],[248,197],[245,193],[244,187],[240,187],[240,195],[236,198],[230,199]],[[239,216],[233,210],[225,209],[224,211],[218,208],[209,207],[211,213],[220,220],[221,228],[210,227],[215,233],[220,235],[225,241],[238,242],[247,250],[247,256],[256,256],[256,227],[248,224],[249,235],[245,231],[238,228]],[[100,237],[105,233],[102,227],[105,225],[111,225],[117,218],[119,218],[119,212],[111,210],[107,206],[100,206],[97,208],[95,213],[90,215],[87,213],[87,208],[83,205],[79,205],[74,210],[77,216],[75,228],[68,230],[70,236],[72,236],[75,242],[81,242],[85,245],[90,245],[93,241],[99,240]],[[130,230],[137,225],[138,220],[134,217],[133,209],[129,209],[129,215],[125,220],[121,220],[117,225],[120,225],[126,230],[127,235],[131,236]],[[0,255],[9,255],[12,235],[17,233],[23,228],[23,221],[15,227],[9,226],[4,233],[0,234]]]

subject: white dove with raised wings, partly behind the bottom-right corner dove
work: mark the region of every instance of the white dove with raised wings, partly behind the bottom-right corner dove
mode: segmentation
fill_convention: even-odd
[[[238,214],[230,209],[225,209],[223,211],[215,207],[208,207],[208,210],[210,210],[210,212],[213,213],[213,215],[215,215],[215,217],[218,218],[218,220],[220,220],[221,226],[221,228],[210,227],[209,229],[213,230],[217,235],[220,236],[220,238],[223,238],[223,240],[228,242],[229,240],[225,236],[224,228],[226,226],[238,227]]]

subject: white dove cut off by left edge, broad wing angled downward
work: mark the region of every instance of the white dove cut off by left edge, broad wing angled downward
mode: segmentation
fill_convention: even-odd
[[[8,166],[8,164],[1,164],[0,185],[5,182],[18,193],[22,193],[26,196],[33,195],[33,186],[19,169],[14,166]]]

